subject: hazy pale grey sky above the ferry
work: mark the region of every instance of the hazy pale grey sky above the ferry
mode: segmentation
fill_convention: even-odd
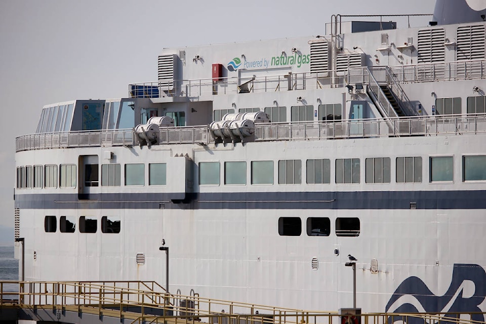
[[[331,15],[432,13],[435,0],[0,0],[0,226],[14,226],[15,137],[42,107],[126,97],[163,48],[325,34]],[[388,18],[386,18],[388,19]],[[411,20],[425,26],[430,17]],[[406,20],[395,19],[398,27]]]

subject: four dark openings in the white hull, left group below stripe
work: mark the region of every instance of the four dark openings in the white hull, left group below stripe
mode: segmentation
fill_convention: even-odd
[[[47,233],[57,232],[57,217],[46,216],[44,218],[44,230]],[[98,230],[98,220],[92,216],[81,216],[77,222],[79,233],[96,233]],[[121,221],[119,217],[101,217],[101,232],[117,234],[120,232]],[[61,233],[74,233],[76,231],[76,219],[73,216],[59,217],[59,231]]]

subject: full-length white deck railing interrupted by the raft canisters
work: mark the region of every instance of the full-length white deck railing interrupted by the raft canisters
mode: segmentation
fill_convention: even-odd
[[[255,141],[437,136],[486,133],[486,114],[413,116],[255,125]],[[209,144],[208,126],[160,129],[159,144]],[[138,145],[132,130],[31,134],[16,138],[16,150]]]

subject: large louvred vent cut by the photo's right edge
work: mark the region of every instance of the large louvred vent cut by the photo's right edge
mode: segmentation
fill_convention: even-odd
[[[457,28],[457,60],[484,59],[484,25]]]

